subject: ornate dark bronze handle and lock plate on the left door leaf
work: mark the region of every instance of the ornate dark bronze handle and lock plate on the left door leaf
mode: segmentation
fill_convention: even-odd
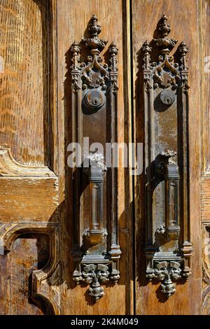
[[[103,65],[100,52],[107,41],[98,37],[101,27],[95,15],[87,30],[89,37],[71,45],[73,141],[83,148],[83,137],[88,137],[90,145],[100,143],[105,150],[107,142],[117,141],[118,49],[115,43],[109,45],[109,64]],[[87,61],[81,63],[85,48]],[[97,301],[104,295],[101,283],[120,278],[118,176],[113,151],[107,169],[98,148],[83,152],[83,159],[87,166],[83,163],[73,172],[73,280],[90,283],[89,294]]]

